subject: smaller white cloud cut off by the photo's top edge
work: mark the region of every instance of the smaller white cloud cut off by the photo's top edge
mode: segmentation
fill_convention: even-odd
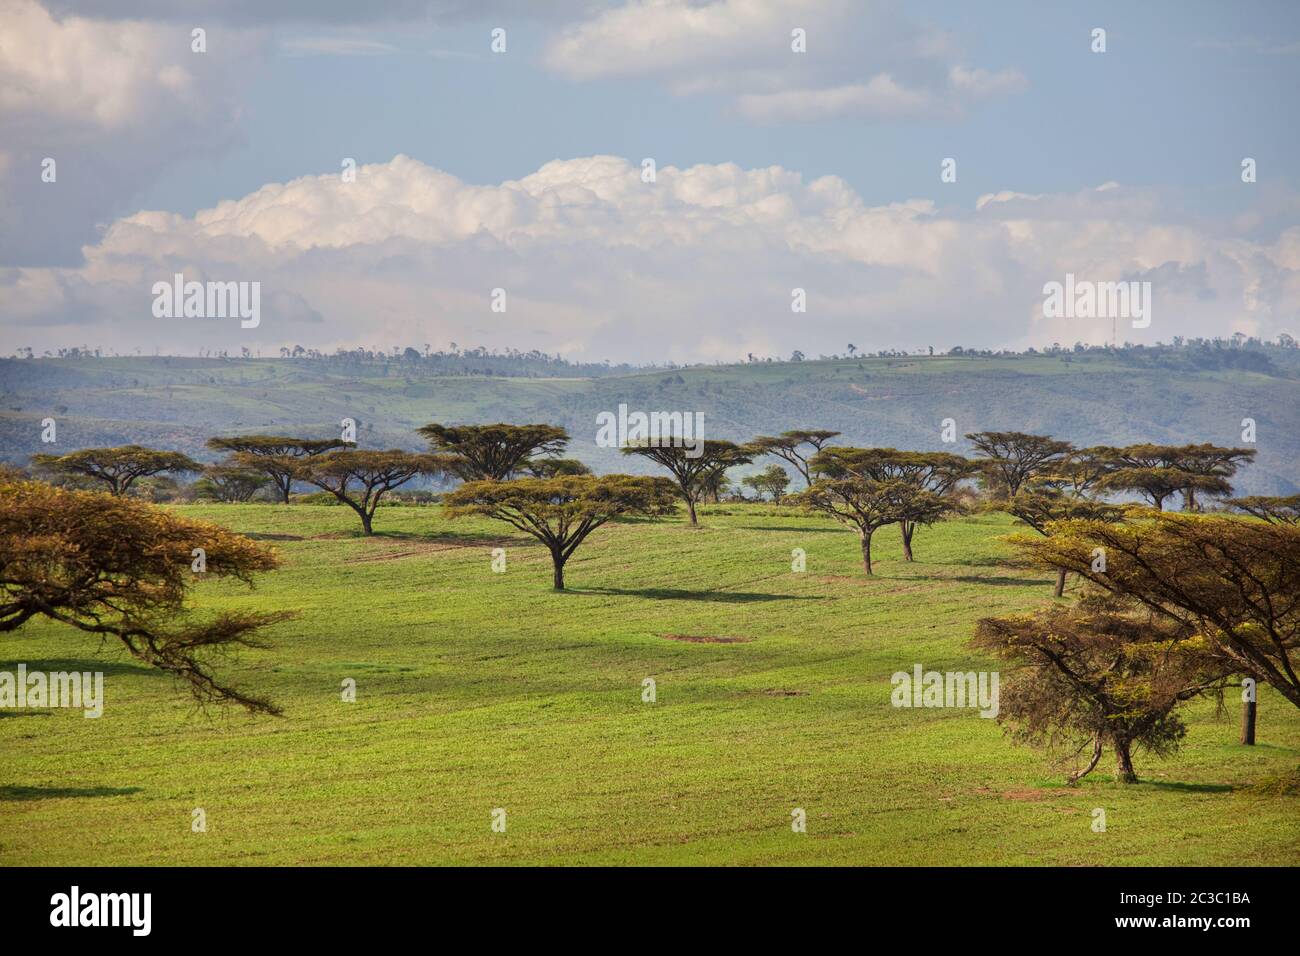
[[[1017,69],[961,62],[954,36],[892,0],[633,0],[559,31],[543,60],[575,81],[731,94],[742,116],[772,122],[950,118],[1027,86]]]

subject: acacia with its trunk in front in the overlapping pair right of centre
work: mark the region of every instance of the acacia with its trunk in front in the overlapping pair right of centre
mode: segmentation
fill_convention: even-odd
[[[814,471],[816,466],[814,463]],[[858,532],[862,567],[871,574],[871,536],[887,524],[932,524],[953,510],[946,498],[907,481],[876,481],[857,476],[822,477],[805,488],[796,502],[829,515]]]

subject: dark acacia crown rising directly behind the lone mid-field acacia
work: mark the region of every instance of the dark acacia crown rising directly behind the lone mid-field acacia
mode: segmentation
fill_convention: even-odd
[[[441,425],[417,429],[432,450],[443,457],[445,470],[463,481],[506,481],[537,458],[555,458],[568,445],[568,432],[558,425]]]

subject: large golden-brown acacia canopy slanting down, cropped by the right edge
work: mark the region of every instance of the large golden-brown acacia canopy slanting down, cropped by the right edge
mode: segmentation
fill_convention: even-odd
[[[1234,672],[1300,706],[1300,527],[1148,512],[1141,522],[1062,522],[1017,536],[1024,557],[1131,598],[1214,649]],[[1101,549],[1105,570],[1095,567]]]

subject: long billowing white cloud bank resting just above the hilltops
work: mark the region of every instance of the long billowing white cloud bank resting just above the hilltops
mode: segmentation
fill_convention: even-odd
[[[642,362],[1105,341],[1109,320],[1041,315],[1044,282],[1072,272],[1153,284],[1132,341],[1271,337],[1300,306],[1297,250],[1300,229],[1249,241],[1123,186],[867,206],[837,177],[779,166],[664,166],[647,183],[589,156],[481,186],[396,156],[355,182],[309,176],[192,217],[121,219],[82,267],[0,269],[0,320],[38,349],[456,341]],[[177,272],[261,282],[260,328],[155,319],[152,284]]]

